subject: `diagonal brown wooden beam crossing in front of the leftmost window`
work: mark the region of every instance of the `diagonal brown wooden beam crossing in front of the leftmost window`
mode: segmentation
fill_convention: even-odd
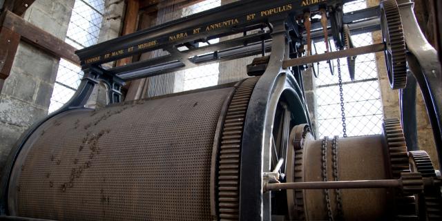
[[[80,64],[79,58],[75,55],[75,50],[77,50],[77,48],[70,46],[54,35],[41,30],[41,28],[25,21],[23,18],[10,11],[3,13],[5,14],[3,27],[16,32],[21,36],[21,40],[41,48],[41,50],[44,50],[55,57],[66,59],[73,64]]]

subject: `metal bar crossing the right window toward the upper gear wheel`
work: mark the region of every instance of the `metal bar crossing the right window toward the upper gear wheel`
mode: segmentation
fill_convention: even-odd
[[[368,53],[380,52],[385,50],[385,44],[372,44],[369,46],[363,46],[358,48],[350,48],[347,50],[338,50],[335,52],[328,52],[319,55],[311,55],[308,57],[299,57],[295,59],[289,59],[282,62],[283,68],[288,68],[292,66],[300,66],[303,64],[310,64],[319,61],[327,61],[330,59],[338,59],[342,57],[350,57],[356,55],[363,55]]]

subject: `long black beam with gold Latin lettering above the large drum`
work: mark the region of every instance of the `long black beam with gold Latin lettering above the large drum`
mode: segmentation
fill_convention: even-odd
[[[231,32],[266,23],[280,17],[301,15],[305,9],[316,12],[320,5],[335,6],[354,0],[327,0],[305,3],[302,0],[243,0],[206,10],[189,17],[170,21],[105,41],[77,51],[83,68],[104,64],[142,52],[156,50],[169,44],[183,44],[195,39],[204,39],[224,32]],[[361,11],[364,15],[373,13]],[[368,13],[368,14],[367,14]],[[352,15],[356,16],[356,15]]]

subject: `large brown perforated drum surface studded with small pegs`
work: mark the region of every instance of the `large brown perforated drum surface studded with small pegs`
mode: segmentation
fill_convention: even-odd
[[[211,220],[213,139],[232,91],[140,101],[51,122],[28,155],[21,153],[23,166],[15,165],[13,215]]]

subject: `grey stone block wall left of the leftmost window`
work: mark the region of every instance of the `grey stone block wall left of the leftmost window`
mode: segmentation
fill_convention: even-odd
[[[39,0],[23,18],[64,39],[75,0]],[[10,76],[0,94],[0,169],[12,146],[33,123],[48,113],[59,59],[21,42]]]

